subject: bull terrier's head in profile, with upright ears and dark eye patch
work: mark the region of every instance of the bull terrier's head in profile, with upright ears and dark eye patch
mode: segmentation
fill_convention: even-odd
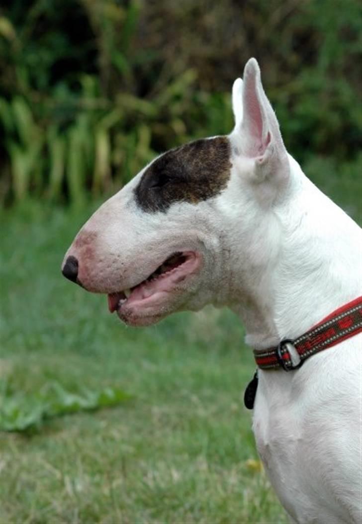
[[[234,83],[233,110],[230,135],[160,155],[91,216],[68,249],[64,276],[106,293],[124,322],[147,325],[174,311],[230,304],[243,279],[252,279],[250,265],[259,278],[270,256],[265,215],[287,184],[289,161],[255,59],[244,83]]]

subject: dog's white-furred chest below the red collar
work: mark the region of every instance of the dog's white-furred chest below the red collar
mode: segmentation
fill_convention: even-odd
[[[330,352],[328,363],[335,351]],[[282,505],[296,522],[359,522],[356,493],[361,476],[347,452],[353,449],[353,456],[360,456],[349,438],[358,413],[348,410],[345,401],[356,397],[357,380],[352,380],[355,386],[348,394],[336,395],[347,384],[346,377],[341,377],[339,387],[326,369],[323,385],[311,380],[313,386],[302,388],[299,376],[306,383],[306,368],[292,385],[289,374],[280,374],[280,380],[273,380],[273,372],[260,377],[253,421],[258,452]],[[352,370],[346,373],[353,377]],[[339,442],[347,444],[344,453],[336,447]]]

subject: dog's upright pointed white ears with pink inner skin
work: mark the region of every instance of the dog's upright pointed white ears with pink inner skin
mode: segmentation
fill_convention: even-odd
[[[271,177],[285,180],[289,174],[287,150],[277,117],[262,87],[255,58],[250,58],[245,65],[244,82],[241,84],[238,80],[233,86],[237,148],[244,156],[255,159],[256,180]],[[239,99],[240,90],[242,101]]]

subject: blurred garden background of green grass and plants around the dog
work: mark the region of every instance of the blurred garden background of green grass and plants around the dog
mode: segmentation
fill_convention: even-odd
[[[361,223],[361,27],[359,0],[2,0],[2,522],[286,521],[238,320],[126,329],[60,264],[146,162],[231,131],[251,56],[288,150]]]

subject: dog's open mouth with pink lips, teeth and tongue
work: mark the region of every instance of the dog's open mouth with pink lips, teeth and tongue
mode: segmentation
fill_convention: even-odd
[[[137,286],[108,294],[108,309],[118,313],[126,306],[155,302],[162,294],[170,292],[199,266],[200,256],[194,252],[173,253]]]

